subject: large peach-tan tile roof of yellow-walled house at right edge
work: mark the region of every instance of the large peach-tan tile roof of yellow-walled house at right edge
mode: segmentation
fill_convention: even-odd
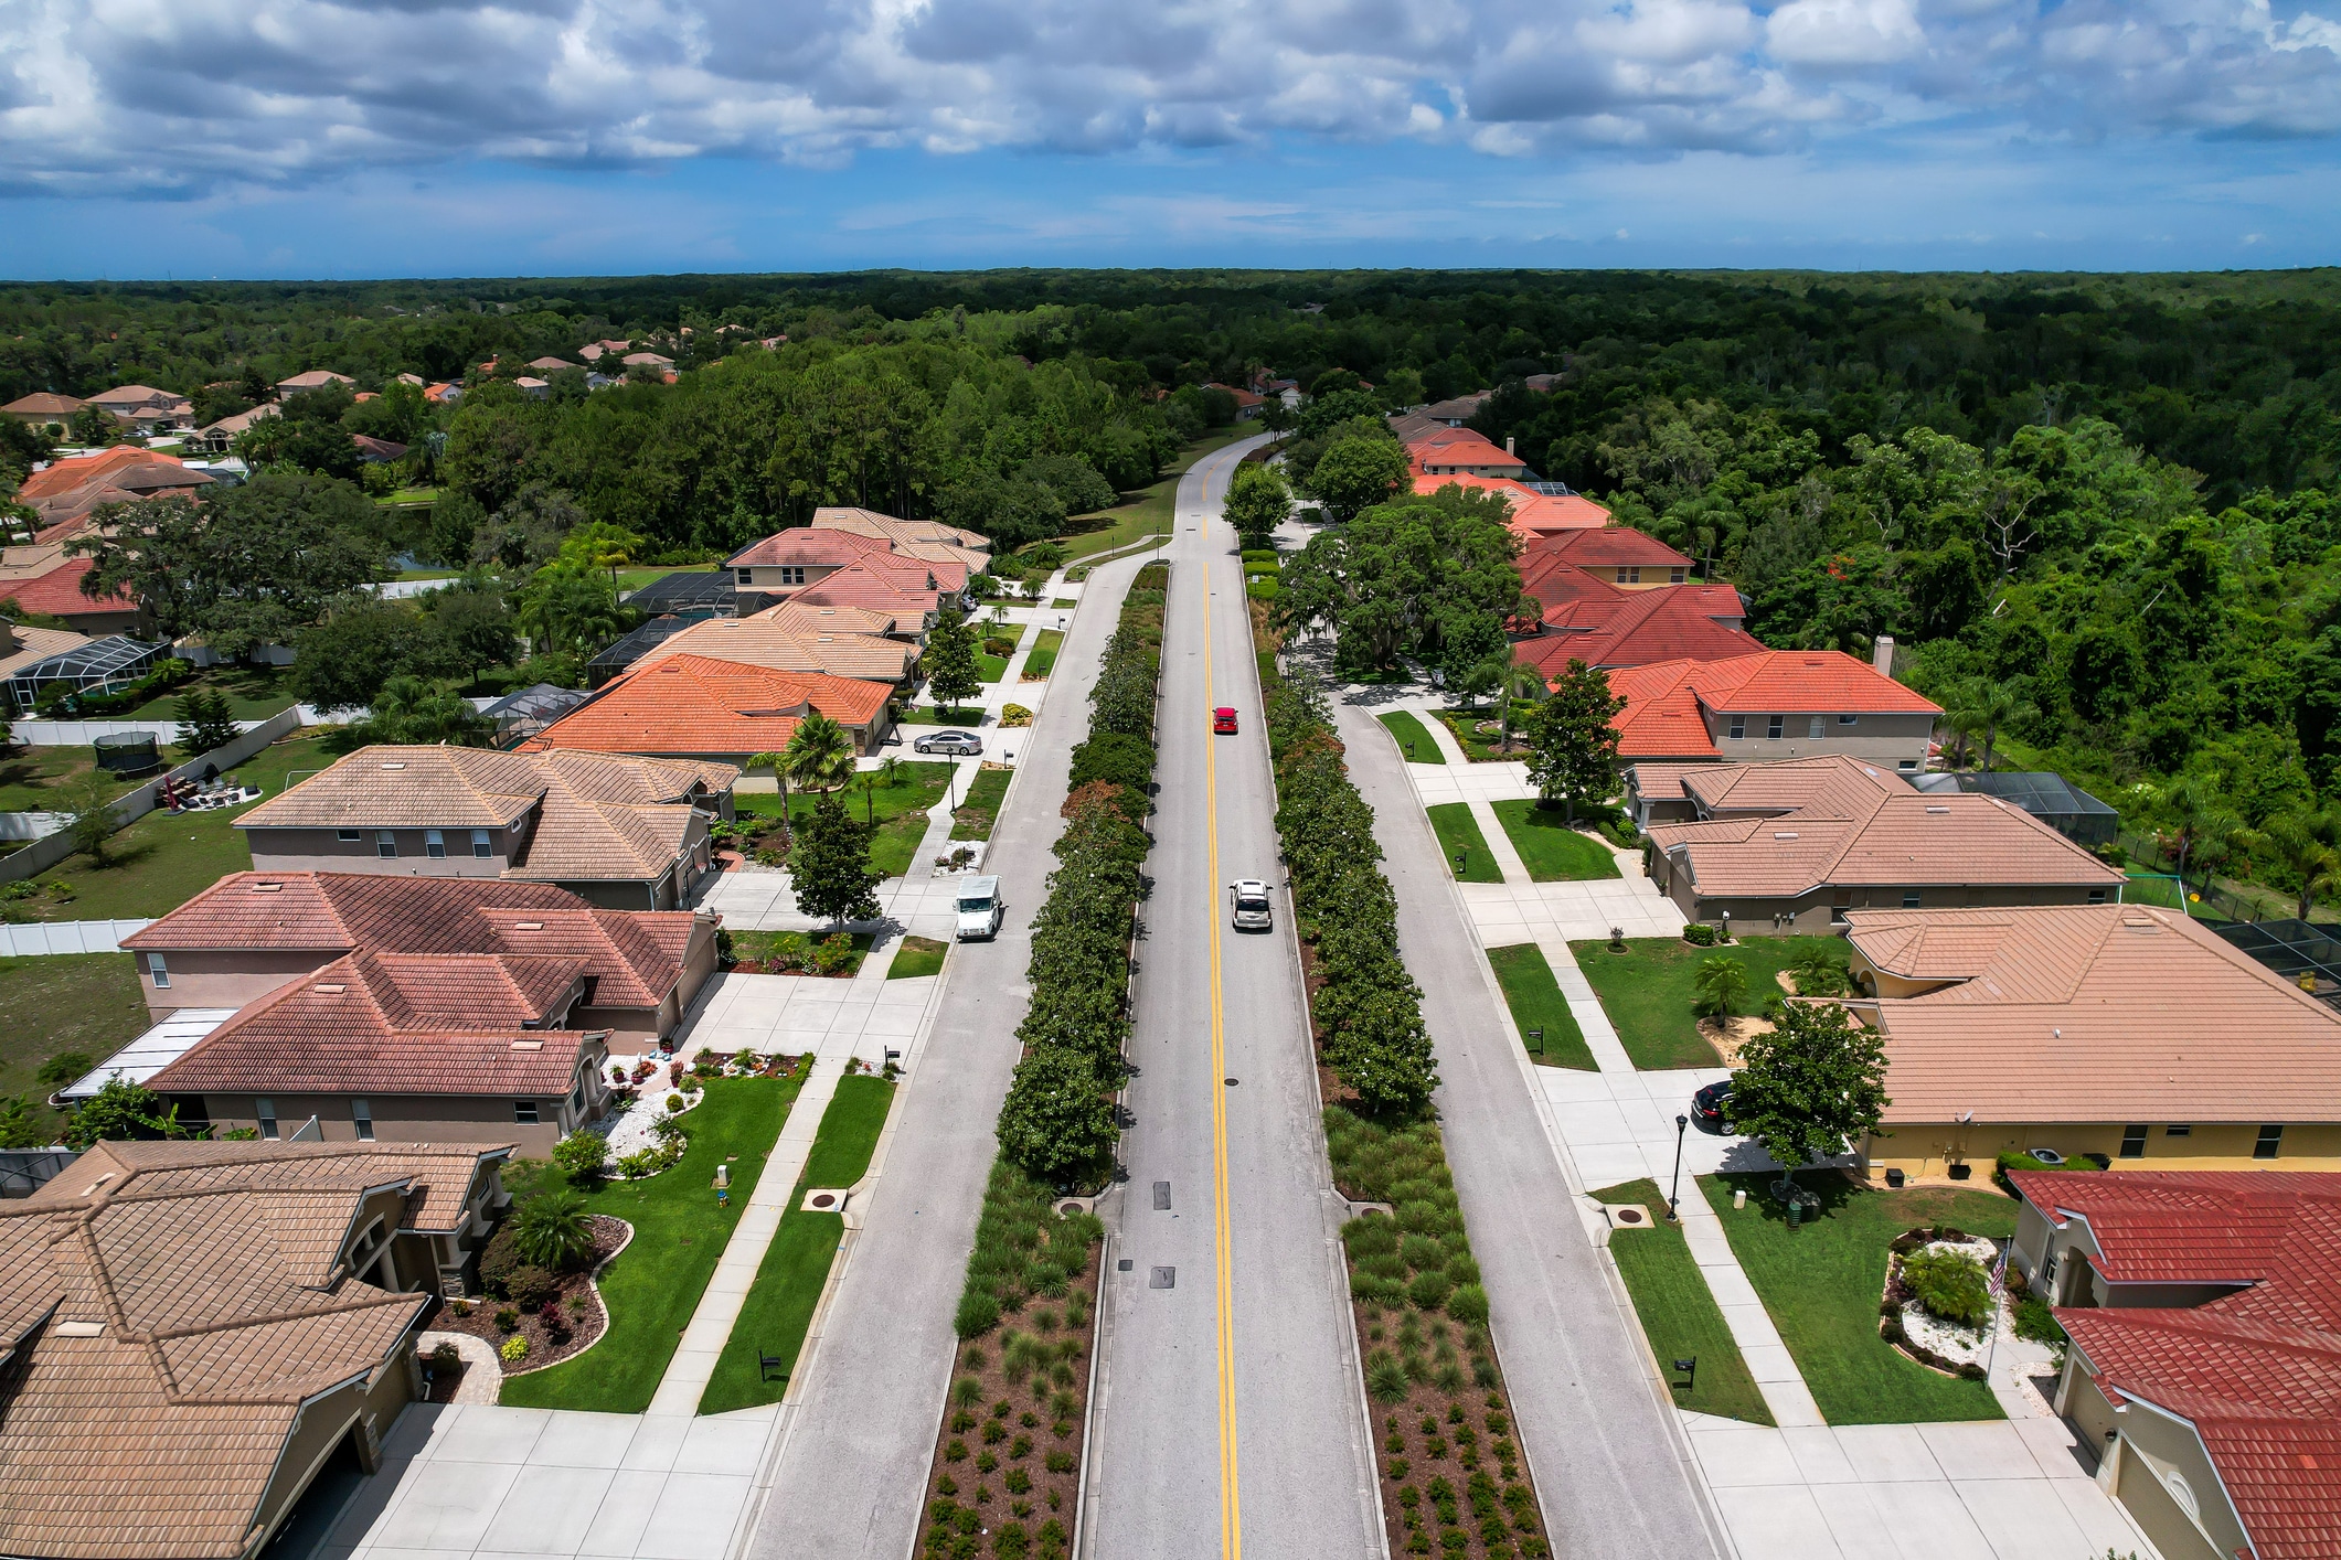
[[[1852,910],[1887,973],[1887,1125],[2341,1120],[2341,1015],[2175,910]],[[1861,1003],[1873,1006],[1873,1003]]]

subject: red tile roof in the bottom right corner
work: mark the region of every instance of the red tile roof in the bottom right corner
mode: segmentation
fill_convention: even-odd
[[[2116,1403],[2189,1420],[2254,1560],[2341,1555],[2341,1174],[2009,1172],[2086,1219],[2114,1284],[2245,1284],[2194,1307],[2060,1307]]]

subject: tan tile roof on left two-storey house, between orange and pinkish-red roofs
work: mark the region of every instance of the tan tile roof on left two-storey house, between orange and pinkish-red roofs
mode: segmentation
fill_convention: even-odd
[[[236,828],[510,828],[534,812],[508,877],[648,879],[684,849],[691,800],[737,779],[730,765],[627,751],[370,746],[260,802]]]

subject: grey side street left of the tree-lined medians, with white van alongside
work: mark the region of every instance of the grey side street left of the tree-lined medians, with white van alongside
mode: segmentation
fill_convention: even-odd
[[[1098,655],[1140,564],[1105,564],[1089,578],[1039,718],[1014,732],[1018,779],[988,861],[1007,924],[995,943],[960,945],[943,973],[941,1010],[911,1057],[899,1130],[777,1445],[754,1560],[911,1553],[955,1359],[950,1317],[1030,996],[1032,912],[1056,865],[1049,847],[1063,830],[1072,744],[1089,732]]]

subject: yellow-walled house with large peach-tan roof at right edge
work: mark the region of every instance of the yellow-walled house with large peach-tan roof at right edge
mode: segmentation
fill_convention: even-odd
[[[2341,1169],[2341,1015],[2177,910],[1852,910],[1847,1006],[1885,1036],[1870,1174],[2004,1151]]]

